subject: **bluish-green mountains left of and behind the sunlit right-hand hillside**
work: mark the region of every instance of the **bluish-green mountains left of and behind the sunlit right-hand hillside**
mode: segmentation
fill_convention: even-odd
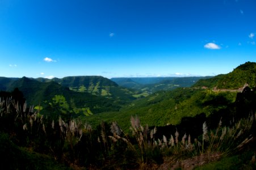
[[[62,103],[67,103],[69,108],[86,108],[90,113],[101,113],[119,111],[124,105],[148,96],[156,90],[190,86],[198,79],[199,77],[179,78],[180,82],[175,82],[175,78],[140,78],[137,81],[140,87],[127,88],[124,83],[117,84],[102,76],[68,76],[61,79],[0,77],[0,91],[13,91],[18,88],[23,92],[27,104],[40,105],[44,108],[41,111],[43,113],[48,112],[49,104],[56,96],[61,96],[64,100]],[[124,82],[122,78],[113,80]]]

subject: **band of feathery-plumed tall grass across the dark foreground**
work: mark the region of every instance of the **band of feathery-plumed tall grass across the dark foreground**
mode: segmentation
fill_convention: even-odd
[[[216,129],[209,129],[204,122],[202,135],[194,141],[190,134],[178,130],[157,139],[157,128],[142,126],[138,117],[131,117],[131,134],[125,134],[117,122],[103,122],[91,129],[79,120],[52,120],[27,108],[26,103],[0,98],[0,131],[11,134],[15,145],[52,155],[73,167],[143,168],[161,164],[168,156],[231,155],[253,141],[255,117],[251,114],[230,126],[222,126],[220,121]]]

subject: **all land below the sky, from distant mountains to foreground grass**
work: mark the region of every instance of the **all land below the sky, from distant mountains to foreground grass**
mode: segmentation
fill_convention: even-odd
[[[246,62],[197,83],[126,79],[132,90],[100,76],[0,78],[1,166],[255,169],[255,74]]]

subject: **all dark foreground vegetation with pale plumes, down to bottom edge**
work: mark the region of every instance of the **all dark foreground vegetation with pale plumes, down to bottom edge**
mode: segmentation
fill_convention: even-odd
[[[240,118],[228,126],[222,125],[226,121],[223,119],[216,129],[210,129],[204,122],[200,125],[201,135],[196,138],[190,134],[179,133],[178,130],[171,133],[170,138],[167,135],[157,138],[157,133],[161,131],[156,127],[150,129],[148,125],[142,126],[138,117],[131,117],[131,134],[124,133],[116,122],[102,122],[95,129],[91,129],[90,125],[79,120],[64,121],[61,117],[52,120],[40,116],[27,108],[22,99],[15,101],[16,97],[11,99],[10,94],[2,96],[0,155],[2,158],[8,155],[1,164],[3,167],[158,169],[161,166],[185,168],[187,161],[193,161],[194,164],[190,167],[195,167],[210,159],[221,159],[228,161],[229,164],[225,164],[228,168],[233,167],[230,164],[233,160],[237,160],[236,165],[255,168],[255,154],[251,152],[255,150],[248,152],[246,149],[254,145],[252,142],[255,137],[251,135],[256,122],[254,114]],[[54,97],[54,101],[65,103],[61,96]],[[191,138],[195,138],[194,141]],[[234,155],[244,150],[245,156],[242,158]],[[230,155],[232,156],[229,157]],[[169,158],[169,162],[166,162],[166,158]],[[216,167],[220,167],[221,161],[216,163]],[[245,164],[248,161],[249,164]],[[211,168],[211,164],[205,167]]]

